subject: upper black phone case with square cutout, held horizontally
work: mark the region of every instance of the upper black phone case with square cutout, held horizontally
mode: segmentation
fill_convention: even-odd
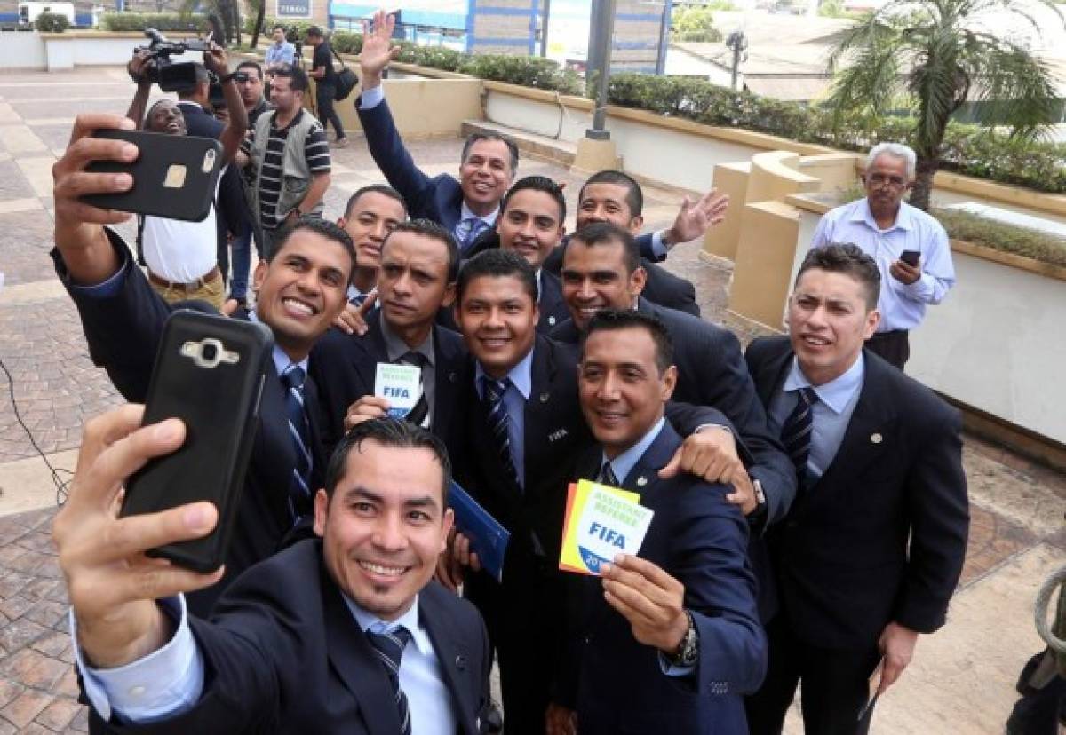
[[[221,143],[195,135],[129,130],[98,130],[94,137],[128,141],[141,150],[141,154],[132,163],[94,161],[88,164],[85,170],[90,173],[130,174],[133,187],[119,194],[87,194],[81,197],[82,201],[101,209],[188,222],[200,222],[208,215],[222,172]],[[174,180],[167,185],[172,166],[184,166],[180,185]]]

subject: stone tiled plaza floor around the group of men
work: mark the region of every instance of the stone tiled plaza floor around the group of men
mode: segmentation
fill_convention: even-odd
[[[75,114],[123,112],[132,92],[119,69],[0,77],[0,359],[14,377],[23,421],[49,454],[77,447],[83,421],[119,398],[88,360],[77,313],[56,288],[47,256],[48,169]],[[432,174],[455,168],[459,149],[456,140],[411,144],[415,159]],[[335,163],[328,216],[340,213],[352,191],[378,179],[359,136],[335,152]],[[538,161],[523,161],[520,173],[566,182],[572,226],[581,180]],[[645,198],[649,228],[667,224],[680,200],[651,186]],[[131,234],[129,226],[122,229]],[[744,342],[758,333],[725,311],[728,263],[701,260],[691,243],[675,249],[668,267],[696,283],[707,317]],[[16,464],[25,466],[18,460],[35,454],[15,420],[7,388],[0,377],[0,513],[5,468],[14,475]],[[1037,649],[1025,610],[1043,577],[1066,564],[1066,478],[972,438],[964,462],[973,520],[952,617],[942,633],[919,646],[912,670],[878,705],[875,732],[1001,732],[1014,699],[1013,677]],[[54,490],[43,483],[42,509],[0,518],[0,735],[86,728],[85,713],[72,699],[65,594],[48,538],[54,510],[45,506]],[[980,677],[967,679],[973,672]],[[947,725],[955,722],[952,713],[965,725]],[[789,732],[798,732],[794,723]]]

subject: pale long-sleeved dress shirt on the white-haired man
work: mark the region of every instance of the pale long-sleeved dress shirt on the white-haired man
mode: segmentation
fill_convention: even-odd
[[[866,199],[827,212],[818,223],[810,247],[829,243],[854,243],[877,261],[882,278],[877,331],[914,329],[922,323],[925,307],[939,304],[955,284],[948,233],[940,223],[905,201],[900,202],[895,223],[885,230],[877,227]],[[888,272],[904,250],[920,254],[922,275],[909,285]]]

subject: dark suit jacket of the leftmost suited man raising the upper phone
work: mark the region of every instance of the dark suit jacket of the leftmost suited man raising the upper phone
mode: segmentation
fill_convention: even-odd
[[[114,295],[94,298],[70,289],[70,279],[58,250],[52,250],[52,259],[81,316],[94,364],[107,370],[108,377],[123,397],[144,403],[163,326],[180,306],[168,305],[160,298],[141,270],[133,265],[122,239],[111,230],[106,231],[112,246],[125,259],[123,283]],[[190,306],[210,310],[201,301],[191,301]],[[325,484],[326,456],[319,430],[322,420],[318,412],[319,398],[313,379],[304,383],[304,395],[311,429],[308,447],[312,458],[311,484],[321,488]],[[188,595],[189,606],[196,615],[207,615],[214,600],[238,574],[271,556],[282,544],[292,528],[289,480],[295,463],[296,448],[289,434],[285,388],[271,360],[259,405],[252,459],[226,553],[226,575],[219,584]]]

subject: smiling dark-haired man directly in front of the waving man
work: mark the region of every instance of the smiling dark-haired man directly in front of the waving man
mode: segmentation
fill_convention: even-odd
[[[543,265],[566,232],[566,198],[559,184],[545,176],[527,176],[515,182],[500,202],[496,228],[485,232],[467,258],[500,247],[524,258],[536,271],[537,331],[548,333],[568,315],[559,276]]]

